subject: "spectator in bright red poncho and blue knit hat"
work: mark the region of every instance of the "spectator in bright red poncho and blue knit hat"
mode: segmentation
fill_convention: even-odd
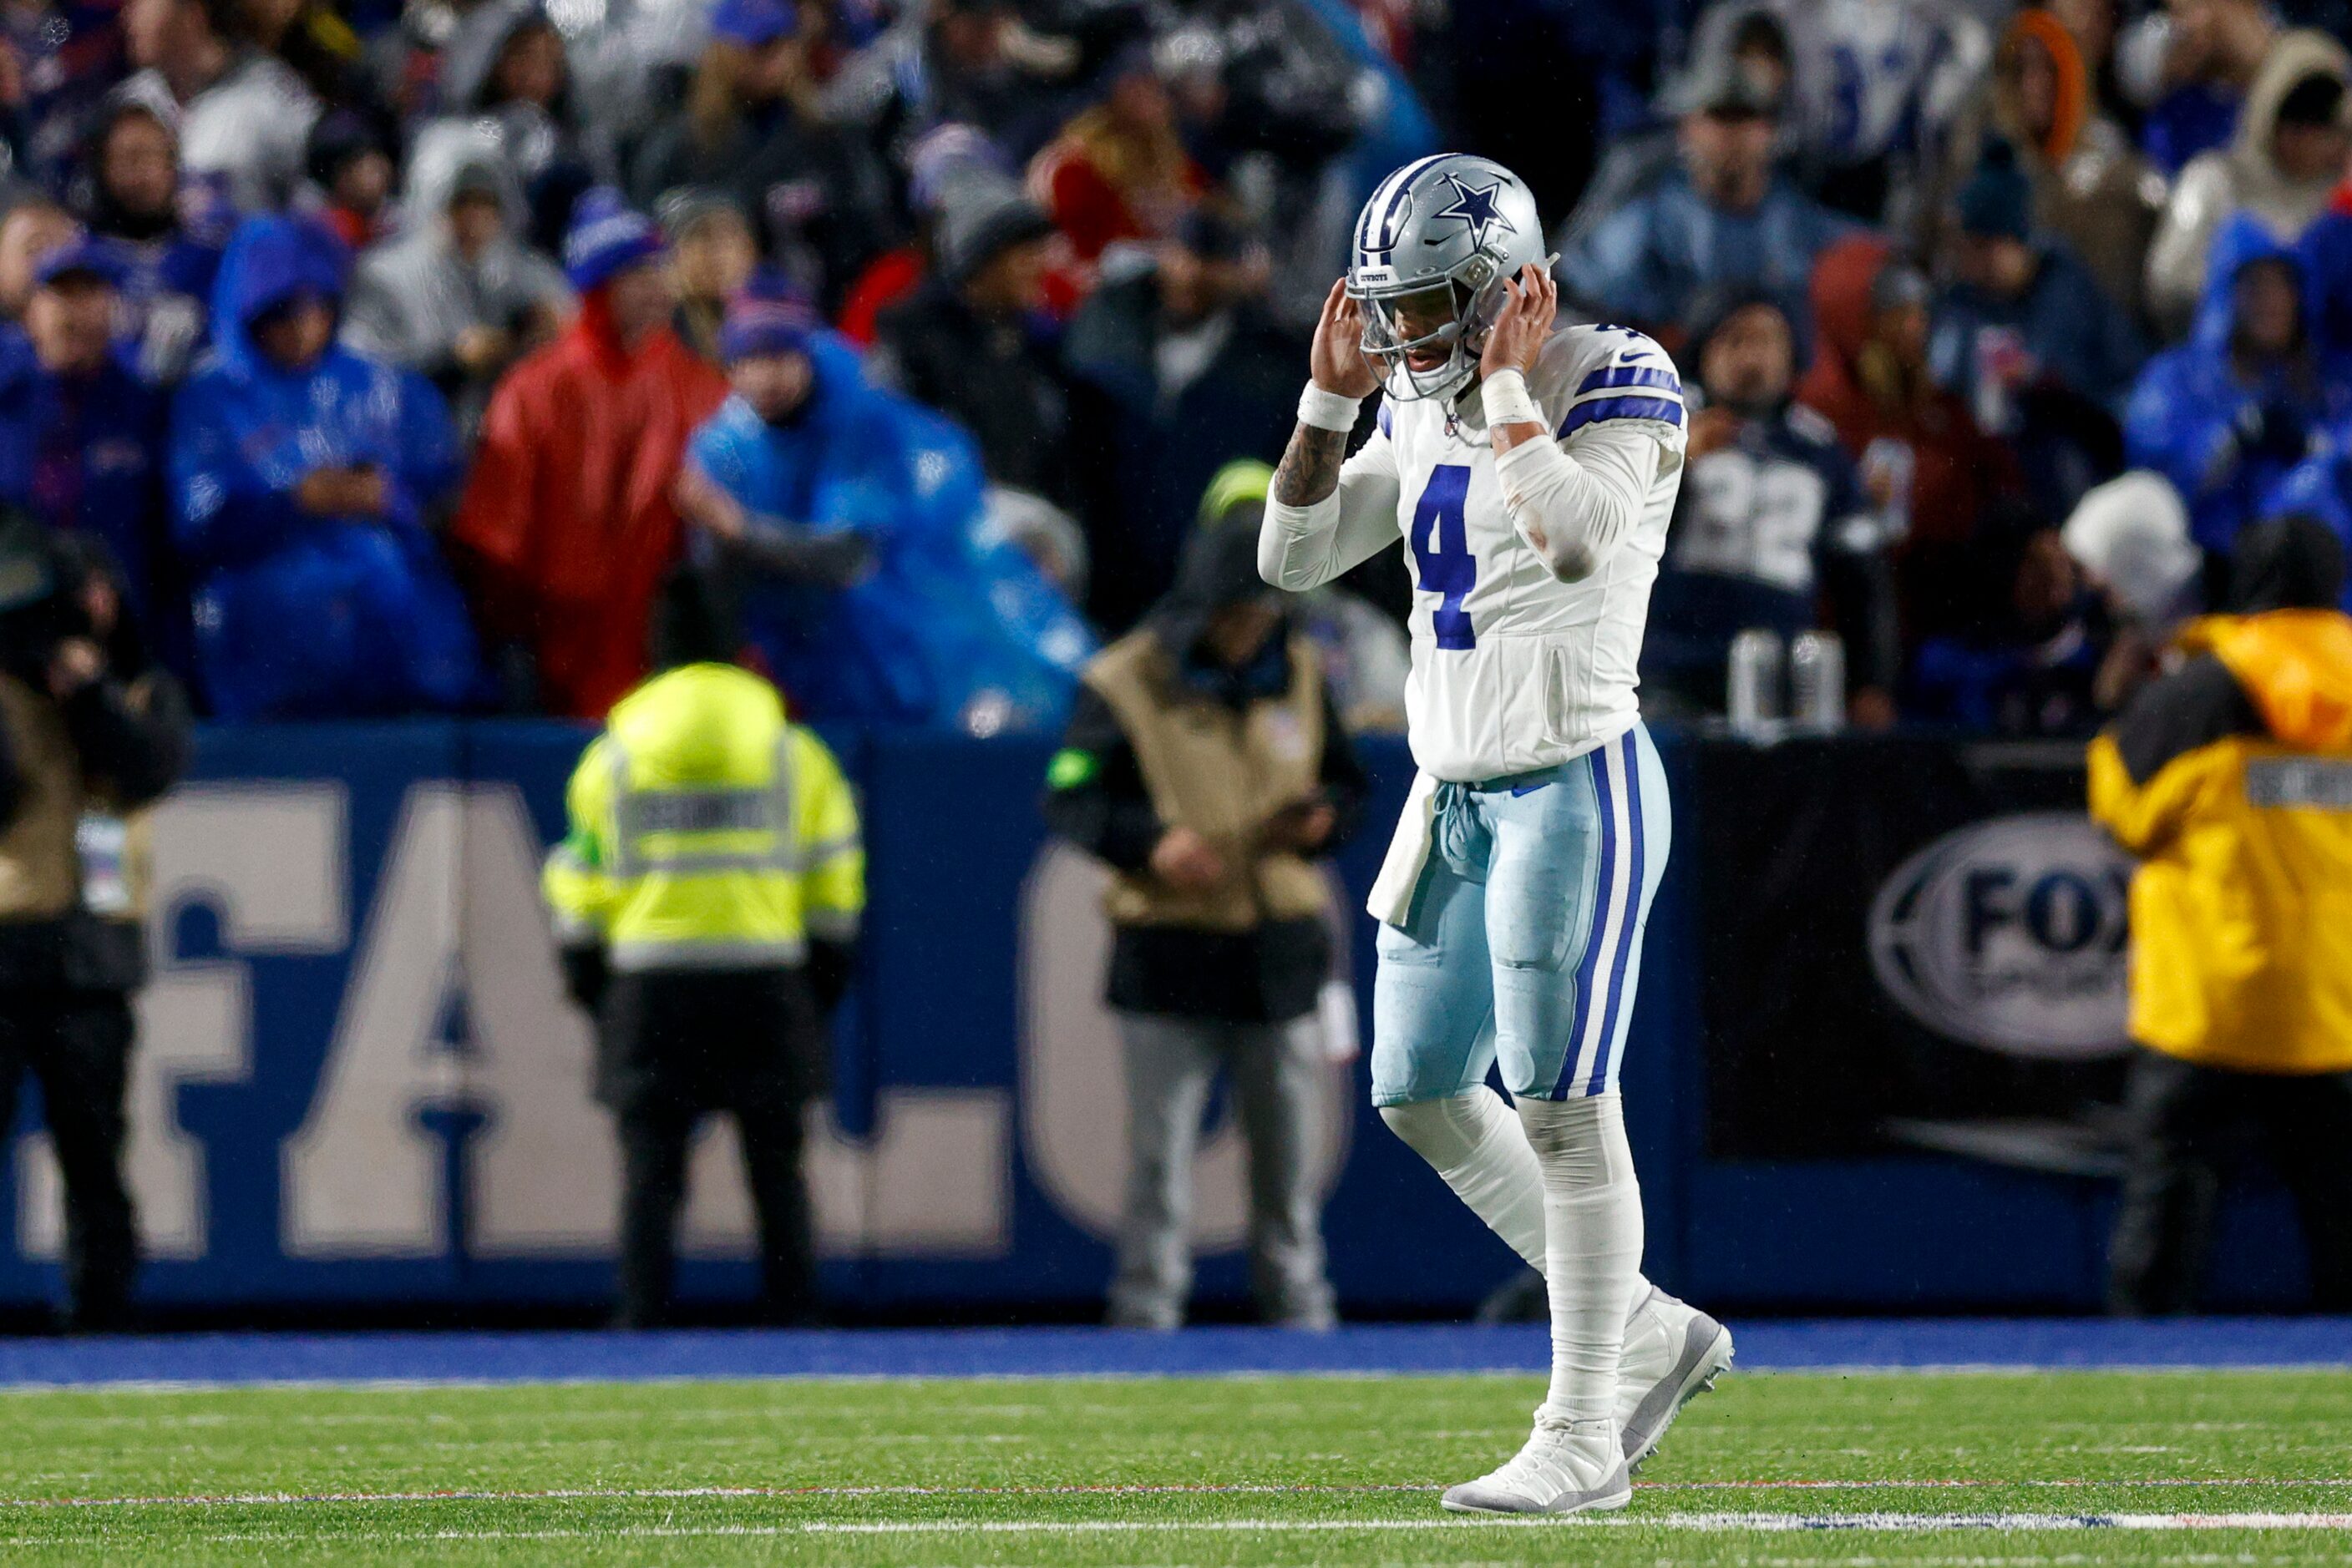
[[[670,331],[661,233],[616,190],[579,200],[564,273],[581,313],[492,397],[452,536],[513,684],[600,719],[644,675],[677,461],[727,378]]]

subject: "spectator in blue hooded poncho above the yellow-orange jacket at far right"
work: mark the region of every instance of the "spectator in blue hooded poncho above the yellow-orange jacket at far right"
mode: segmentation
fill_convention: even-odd
[[[2307,327],[2300,252],[2251,214],[2213,240],[2197,331],[2147,362],[2124,411],[2133,468],[2154,468],[2190,505],[2190,531],[2225,555],[2263,496],[2352,407],[2345,364]]]

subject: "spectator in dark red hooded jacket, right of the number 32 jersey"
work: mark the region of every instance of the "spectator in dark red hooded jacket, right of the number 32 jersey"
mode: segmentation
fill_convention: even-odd
[[[1813,268],[1813,367],[1797,402],[1837,425],[1896,543],[1905,639],[1952,630],[1976,520],[2018,489],[2016,458],[1929,374],[1929,282],[1886,240],[1839,240]]]

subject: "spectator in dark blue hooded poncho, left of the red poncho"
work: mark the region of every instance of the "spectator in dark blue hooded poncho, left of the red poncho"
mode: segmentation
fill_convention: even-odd
[[[247,221],[172,411],[198,668],[228,719],[449,710],[477,689],[428,531],[456,480],[449,414],[412,371],[336,348],[341,303],[332,235]]]

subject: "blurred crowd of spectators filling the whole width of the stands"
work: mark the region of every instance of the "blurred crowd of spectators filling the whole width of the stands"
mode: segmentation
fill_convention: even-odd
[[[1049,729],[1456,143],[1693,395],[1644,701],[2077,733],[2352,531],[2336,0],[7,0],[0,503],[228,719],[600,717],[701,576],[814,719]],[[1298,609],[1402,712],[1404,574]]]

